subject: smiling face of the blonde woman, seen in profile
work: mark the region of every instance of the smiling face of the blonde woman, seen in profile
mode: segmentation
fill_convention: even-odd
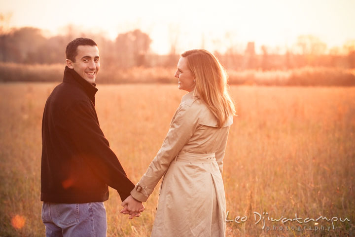
[[[195,88],[195,77],[187,67],[187,58],[180,57],[178,61],[178,69],[174,77],[178,78],[178,88],[180,90],[190,92]]]

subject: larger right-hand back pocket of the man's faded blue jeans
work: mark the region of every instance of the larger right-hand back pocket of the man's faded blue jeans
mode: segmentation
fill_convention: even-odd
[[[78,203],[52,203],[56,211],[58,221],[66,226],[79,222]]]

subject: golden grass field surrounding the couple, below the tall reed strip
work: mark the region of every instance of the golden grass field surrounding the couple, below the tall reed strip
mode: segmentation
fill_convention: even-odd
[[[41,118],[55,85],[0,83],[1,237],[44,235]],[[99,82],[97,87],[101,127],[137,182],[159,150],[184,92],[160,84]],[[224,159],[228,220],[233,220],[227,223],[227,236],[355,236],[355,87],[232,86],[231,94],[238,117]],[[119,213],[120,198],[110,189],[108,236],[149,236],[156,202],[154,191],[142,216],[129,221]],[[255,224],[259,217],[254,212],[265,218],[264,229],[262,220]],[[331,221],[321,219],[269,220],[293,219],[296,213],[301,222],[333,218],[334,229]],[[241,222],[238,216],[248,219]],[[325,230],[314,230],[321,227]]]

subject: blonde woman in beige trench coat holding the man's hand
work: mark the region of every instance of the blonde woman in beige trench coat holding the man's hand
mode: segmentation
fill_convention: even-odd
[[[222,160],[235,113],[227,75],[213,54],[195,49],[181,54],[175,77],[178,88],[189,93],[158,154],[122,205],[130,198],[146,201],[164,175],[151,236],[225,236]]]

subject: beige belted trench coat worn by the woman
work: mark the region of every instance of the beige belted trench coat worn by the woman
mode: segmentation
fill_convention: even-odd
[[[132,197],[146,201],[164,175],[153,237],[223,237],[226,207],[223,157],[230,116],[222,128],[193,92],[182,97],[158,154]]]

